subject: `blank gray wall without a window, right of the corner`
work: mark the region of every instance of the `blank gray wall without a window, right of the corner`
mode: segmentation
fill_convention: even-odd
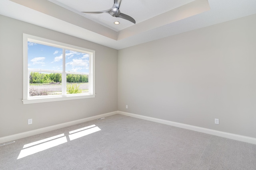
[[[118,50],[118,110],[255,138],[255,21]]]

